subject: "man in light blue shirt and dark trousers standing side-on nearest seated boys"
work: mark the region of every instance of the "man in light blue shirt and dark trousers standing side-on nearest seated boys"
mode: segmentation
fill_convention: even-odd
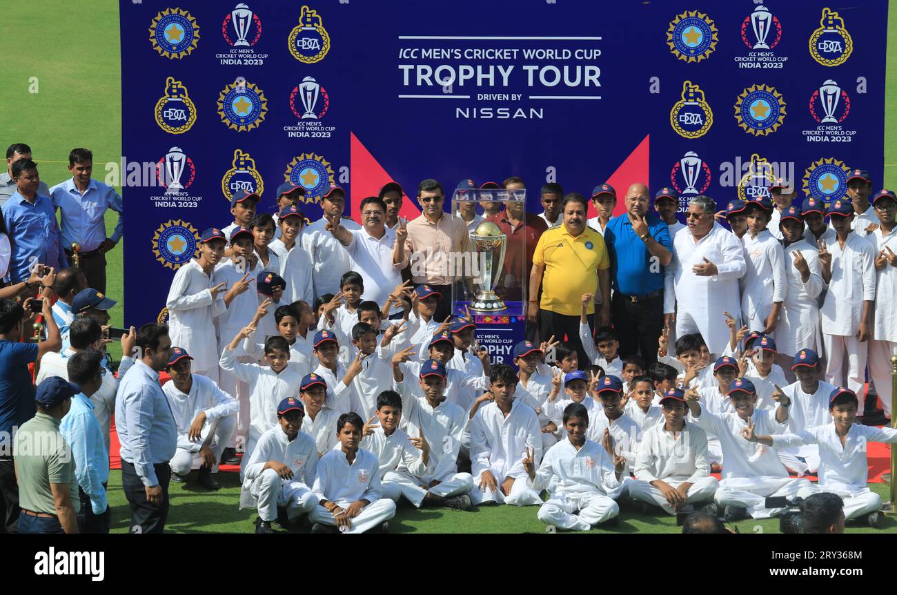
[[[169,461],[178,430],[159,372],[168,365],[168,325],[144,324],[137,331],[142,357],[118,384],[115,419],[121,442],[121,485],[131,505],[132,533],[161,533],[169,510]]]

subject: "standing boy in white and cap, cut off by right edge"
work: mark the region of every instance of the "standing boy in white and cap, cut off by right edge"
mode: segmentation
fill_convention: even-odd
[[[897,201],[882,190],[873,201],[880,226],[867,236],[875,248],[875,324],[869,343],[869,376],[891,419],[891,358],[897,355]]]

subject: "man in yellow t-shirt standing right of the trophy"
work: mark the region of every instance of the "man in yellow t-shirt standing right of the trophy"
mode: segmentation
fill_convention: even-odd
[[[595,319],[595,305],[588,306],[589,326],[594,330],[610,324],[610,258],[601,234],[586,225],[588,202],[575,192],[563,200],[561,225],[542,234],[533,254],[529,276],[527,319],[538,319],[539,335],[547,339],[567,337],[579,354],[579,366],[589,363],[579,341],[579,303],[583,293],[601,293]],[[544,276],[544,283],[543,283]],[[536,296],[542,286],[542,301]]]

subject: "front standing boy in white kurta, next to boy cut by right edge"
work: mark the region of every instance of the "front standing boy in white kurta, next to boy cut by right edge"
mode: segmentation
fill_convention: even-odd
[[[858,415],[862,416],[868,339],[875,304],[875,248],[866,238],[850,231],[854,215],[849,202],[836,200],[828,213],[837,238],[826,247],[828,256],[820,254],[823,281],[829,284],[822,309],[823,344],[828,358],[825,380],[857,393]]]

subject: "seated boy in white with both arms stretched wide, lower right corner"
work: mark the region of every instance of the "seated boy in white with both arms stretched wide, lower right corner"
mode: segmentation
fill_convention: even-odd
[[[882,498],[867,486],[869,442],[897,442],[897,429],[857,424],[857,396],[850,389],[834,389],[829,398],[832,420],[797,433],[755,435],[774,448],[816,444],[819,447],[819,484],[804,486],[802,498],[819,492],[838,494],[844,501],[844,519],[856,519],[882,508]],[[893,447],[892,447],[893,448]]]

